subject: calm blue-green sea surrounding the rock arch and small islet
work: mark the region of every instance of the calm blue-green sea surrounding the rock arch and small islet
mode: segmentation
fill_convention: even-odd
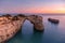
[[[26,20],[22,30],[8,43],[65,43],[65,15],[64,16],[43,16],[44,31],[34,31],[34,25]],[[48,18],[60,19],[58,25],[51,24]]]

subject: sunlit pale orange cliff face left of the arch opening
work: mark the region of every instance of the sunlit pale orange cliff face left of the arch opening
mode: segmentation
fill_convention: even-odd
[[[11,39],[24,24],[25,17],[22,19],[18,16],[1,16],[0,17],[0,42]]]

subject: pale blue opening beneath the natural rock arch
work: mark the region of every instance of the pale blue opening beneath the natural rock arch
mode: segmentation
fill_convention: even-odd
[[[32,33],[32,31],[34,31],[34,25],[28,19],[26,19],[22,27],[22,33],[30,34]]]

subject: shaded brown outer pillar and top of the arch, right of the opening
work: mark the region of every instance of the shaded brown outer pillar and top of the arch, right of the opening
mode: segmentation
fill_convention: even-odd
[[[43,24],[42,24],[42,17],[37,15],[30,15],[27,17],[28,20],[30,20],[31,24],[34,24],[34,28],[37,31],[43,31]]]

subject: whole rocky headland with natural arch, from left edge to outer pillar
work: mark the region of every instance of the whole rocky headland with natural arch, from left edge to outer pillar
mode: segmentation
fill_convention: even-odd
[[[25,16],[22,14],[12,16],[10,14],[0,16],[0,43],[11,39],[21,30],[24,22],[28,19],[38,31],[43,30],[42,17],[38,15]]]

